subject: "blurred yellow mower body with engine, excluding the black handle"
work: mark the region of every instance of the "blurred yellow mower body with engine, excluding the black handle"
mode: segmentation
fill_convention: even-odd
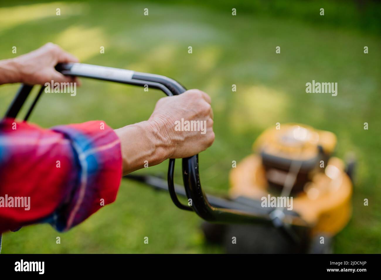
[[[352,196],[343,161],[331,157],[335,146],[336,136],[328,131],[301,124],[270,128],[254,143],[255,153],[231,170],[229,195],[255,200],[280,195],[297,162],[293,211],[310,225],[311,234],[335,235],[351,217]]]

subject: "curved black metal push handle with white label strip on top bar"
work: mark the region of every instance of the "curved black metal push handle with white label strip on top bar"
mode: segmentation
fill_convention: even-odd
[[[149,87],[162,90],[167,96],[178,95],[186,91],[186,89],[181,84],[168,77],[135,72],[132,70],[95,66],[82,63],[58,64],[56,66],[56,70],[64,75],[70,76],[94,78],[98,80],[106,80],[137,86],[147,85]],[[45,87],[42,86],[40,89],[24,120],[27,120],[29,117],[44,88]],[[31,90],[32,86],[21,86],[18,94],[16,95],[16,98],[14,98],[10,108],[6,113],[6,117],[16,117]],[[195,211],[201,218],[210,222],[274,224],[277,227],[279,227],[279,225],[283,225],[283,221],[281,221],[281,218],[279,217],[274,218],[268,215],[257,215],[240,210],[215,208],[211,206],[207,200],[207,196],[201,188],[198,155],[182,159],[182,177],[187,197],[190,199],[189,205],[183,205],[179,202],[174,190],[173,174],[174,159],[170,159],[168,168],[168,190],[174,204],[181,209]],[[287,224],[295,226],[306,226],[306,224],[299,217],[288,219]]]

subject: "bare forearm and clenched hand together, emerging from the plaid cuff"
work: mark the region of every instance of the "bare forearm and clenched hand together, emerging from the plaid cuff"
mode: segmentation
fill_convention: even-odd
[[[121,142],[123,175],[167,158],[190,157],[210,147],[215,139],[210,103],[208,94],[188,90],[160,99],[149,120],[115,130]],[[200,130],[181,130],[181,119],[184,124],[198,121]]]

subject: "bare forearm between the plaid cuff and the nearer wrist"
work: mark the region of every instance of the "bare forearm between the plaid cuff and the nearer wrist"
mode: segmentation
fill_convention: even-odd
[[[157,165],[173,152],[160,123],[145,121],[115,130],[121,144],[123,175]]]

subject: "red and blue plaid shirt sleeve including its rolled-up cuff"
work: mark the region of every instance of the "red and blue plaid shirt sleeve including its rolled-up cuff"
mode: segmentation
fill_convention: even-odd
[[[4,119],[0,232],[37,222],[68,230],[115,200],[121,176],[120,141],[102,121],[43,129]]]

